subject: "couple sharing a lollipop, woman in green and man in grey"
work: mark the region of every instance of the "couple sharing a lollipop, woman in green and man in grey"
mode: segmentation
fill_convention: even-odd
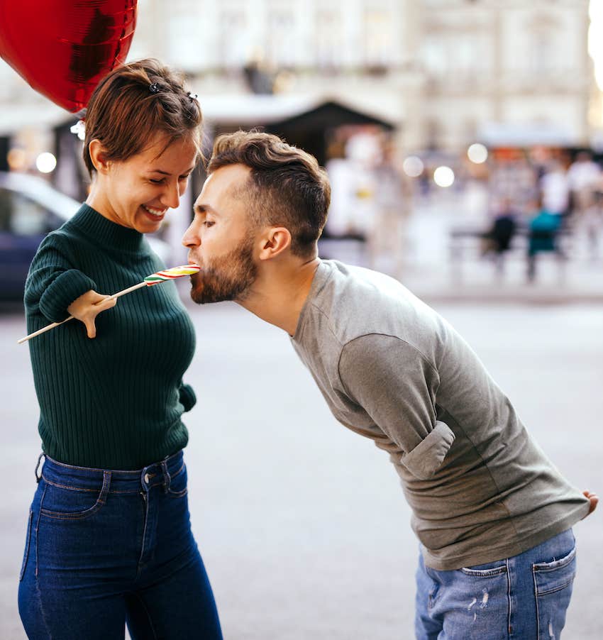
[[[72,314],[94,338],[70,323],[30,342],[45,457],[19,589],[33,639],[118,639],[124,622],[134,640],[221,638],[182,460],[191,321],[171,284],[105,296],[162,266],[144,233],[186,189],[200,124],[159,63],[111,72],[87,112],[87,202],[31,267],[28,331]],[[201,265],[192,298],[287,331],[336,418],[389,453],[421,541],[416,638],[558,637],[571,527],[597,497],[558,473],[438,314],[388,277],[318,258],[330,187],[314,158],[238,132],[216,140],[208,174],[183,238]],[[487,617],[468,609],[477,597]]]

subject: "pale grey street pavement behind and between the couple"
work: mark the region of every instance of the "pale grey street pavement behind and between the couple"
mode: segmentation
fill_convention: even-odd
[[[560,470],[603,493],[603,303],[433,306]],[[234,304],[190,311],[198,346],[185,379],[199,402],[186,415],[189,500],[225,638],[410,640],[417,544],[387,454],[332,418],[282,331]],[[16,344],[24,333],[18,311],[0,315],[2,640],[25,637],[17,576],[40,449],[28,349]],[[564,640],[601,638],[602,514],[575,526]]]

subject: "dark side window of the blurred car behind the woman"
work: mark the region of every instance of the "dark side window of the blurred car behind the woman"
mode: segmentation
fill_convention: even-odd
[[[37,202],[0,188],[0,231],[16,236],[42,236],[59,224],[60,221]]]

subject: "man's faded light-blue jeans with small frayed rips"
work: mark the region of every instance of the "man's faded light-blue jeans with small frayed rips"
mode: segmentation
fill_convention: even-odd
[[[417,640],[559,640],[576,573],[571,529],[519,556],[436,571],[419,555]]]

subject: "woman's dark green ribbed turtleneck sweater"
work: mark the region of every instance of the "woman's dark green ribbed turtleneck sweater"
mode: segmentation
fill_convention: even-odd
[[[112,294],[165,268],[141,233],[83,204],[40,244],[25,289],[28,332],[64,320],[94,289]],[[29,341],[43,451],[62,463],[132,470],[187,444],[195,403],[182,375],[192,322],[175,283],[142,287],[96,316],[96,338],[72,320]]]

